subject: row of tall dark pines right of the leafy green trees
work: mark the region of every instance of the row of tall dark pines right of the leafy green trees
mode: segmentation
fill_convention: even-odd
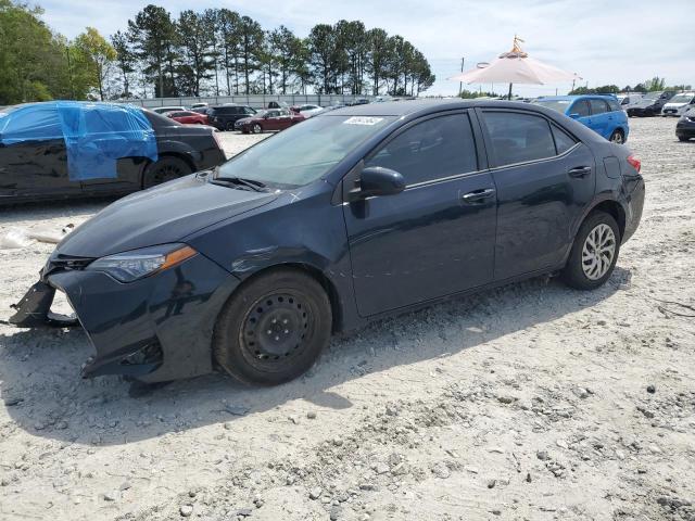
[[[410,42],[362,22],[315,25],[301,38],[264,29],[229,9],[182,11],[148,5],[112,37],[122,94],[134,80],[155,97],[317,93],[417,96],[434,81]]]

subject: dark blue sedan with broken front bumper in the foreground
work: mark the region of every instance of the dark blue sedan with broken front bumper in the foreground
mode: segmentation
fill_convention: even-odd
[[[277,384],[332,332],[389,314],[551,272],[601,287],[643,201],[639,160],[556,111],[339,109],[110,205],[56,247],[12,321],[70,323],[49,314],[59,290],[96,347],[87,377],[217,364]]]

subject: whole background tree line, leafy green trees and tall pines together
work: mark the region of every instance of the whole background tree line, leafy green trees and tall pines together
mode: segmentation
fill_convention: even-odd
[[[302,38],[228,9],[175,17],[150,4],[109,39],[88,27],[67,40],[41,14],[0,0],[0,105],[59,98],[417,96],[434,82],[409,41],[358,21],[318,24]]]

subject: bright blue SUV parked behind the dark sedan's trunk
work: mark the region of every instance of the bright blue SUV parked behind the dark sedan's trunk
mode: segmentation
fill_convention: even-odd
[[[534,103],[577,119],[614,143],[622,144],[628,140],[628,115],[615,96],[549,96],[539,98]]]

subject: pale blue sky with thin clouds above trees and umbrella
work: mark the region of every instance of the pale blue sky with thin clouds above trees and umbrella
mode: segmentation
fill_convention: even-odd
[[[31,0],[30,0],[31,1]],[[417,47],[437,76],[427,94],[456,94],[446,78],[511,48],[515,34],[538,60],[579,74],[582,85],[635,84],[653,76],[669,85],[695,86],[693,0],[39,0],[43,20],[67,38],[86,26],[111,35],[148,3],[181,10],[228,8],[257,20],[265,29],[286,25],[305,37],[317,23],[361,20]],[[496,84],[464,86],[504,93]],[[515,86],[519,96],[566,93],[571,84]]]

